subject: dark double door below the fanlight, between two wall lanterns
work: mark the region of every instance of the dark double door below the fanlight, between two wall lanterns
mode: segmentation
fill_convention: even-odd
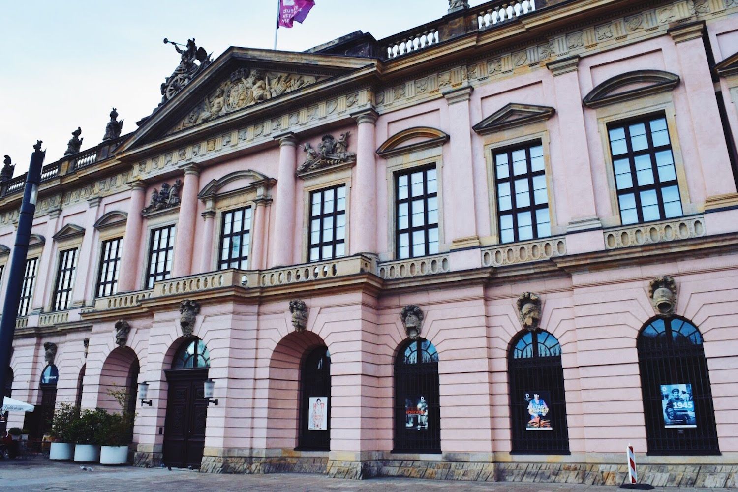
[[[168,370],[164,463],[176,468],[199,468],[205,447],[207,369]]]

